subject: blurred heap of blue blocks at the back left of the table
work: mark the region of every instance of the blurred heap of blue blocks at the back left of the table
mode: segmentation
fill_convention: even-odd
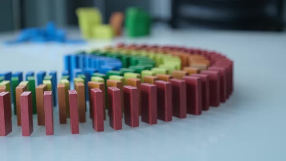
[[[20,32],[16,40],[6,41],[5,44],[13,45],[23,42],[48,42],[55,41],[59,43],[67,44],[80,44],[84,43],[84,40],[68,40],[66,38],[66,31],[63,29],[57,29],[54,22],[48,22],[46,28],[27,28]]]

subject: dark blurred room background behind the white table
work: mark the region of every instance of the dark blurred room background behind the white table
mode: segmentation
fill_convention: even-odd
[[[77,26],[78,7],[97,7],[107,23],[128,6],[146,10],[155,23],[178,28],[283,31],[285,0],[0,0],[0,32],[44,26]]]

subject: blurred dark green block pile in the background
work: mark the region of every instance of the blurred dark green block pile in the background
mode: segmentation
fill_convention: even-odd
[[[150,33],[151,17],[142,9],[129,7],[126,11],[125,27],[129,37],[138,37]]]

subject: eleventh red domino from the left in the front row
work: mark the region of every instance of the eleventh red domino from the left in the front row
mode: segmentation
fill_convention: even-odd
[[[185,76],[183,79],[187,83],[187,113],[202,114],[201,79],[193,76]]]

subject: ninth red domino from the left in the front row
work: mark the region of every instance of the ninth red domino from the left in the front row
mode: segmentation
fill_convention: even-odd
[[[168,81],[155,81],[157,86],[157,114],[158,119],[172,121],[172,85]]]

